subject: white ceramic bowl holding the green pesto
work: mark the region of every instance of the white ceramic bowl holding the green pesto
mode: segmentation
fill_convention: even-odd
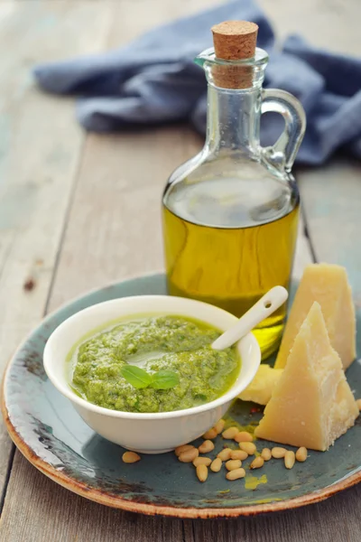
[[[106,301],[74,314],[51,334],[44,350],[44,368],[52,384],[68,397],[83,420],[107,440],[129,450],[163,453],[203,435],[221,418],[232,399],[255,377],[261,362],[261,351],[253,333],[237,343],[241,369],[227,393],[205,405],[186,410],[156,414],[136,414],[110,410],[88,403],[69,387],[66,358],[84,335],[112,320],[139,314],[175,314],[196,318],[226,331],[237,318],[218,307],[182,297],[140,295]]]

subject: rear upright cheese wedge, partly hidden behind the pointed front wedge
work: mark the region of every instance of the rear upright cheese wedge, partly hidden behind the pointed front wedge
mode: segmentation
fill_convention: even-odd
[[[293,341],[313,302],[321,305],[331,345],[338,352],[343,368],[356,358],[356,318],[351,288],[345,267],[329,264],[307,266],[292,304],[274,365],[282,369]]]

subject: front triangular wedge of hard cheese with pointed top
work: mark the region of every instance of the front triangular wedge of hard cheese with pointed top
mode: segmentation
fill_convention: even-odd
[[[331,347],[321,308],[314,303],[255,435],[324,451],[354,425],[357,416],[341,360]]]

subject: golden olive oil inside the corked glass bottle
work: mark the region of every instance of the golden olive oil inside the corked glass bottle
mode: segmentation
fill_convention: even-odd
[[[273,206],[252,206],[257,182],[247,182],[243,209],[243,183],[222,182],[183,184],[181,191],[166,192],[163,235],[168,289],[172,295],[215,304],[240,317],[274,285],[289,286],[299,198],[298,192],[289,198],[281,189]],[[217,193],[212,190],[216,186]],[[278,346],[285,311],[283,305],[255,330],[263,357]]]

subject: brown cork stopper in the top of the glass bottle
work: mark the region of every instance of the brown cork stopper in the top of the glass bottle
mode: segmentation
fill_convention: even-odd
[[[225,21],[211,28],[216,57],[224,61],[243,61],[255,56],[258,26],[248,21]],[[252,66],[215,66],[218,87],[249,89],[253,84]]]

